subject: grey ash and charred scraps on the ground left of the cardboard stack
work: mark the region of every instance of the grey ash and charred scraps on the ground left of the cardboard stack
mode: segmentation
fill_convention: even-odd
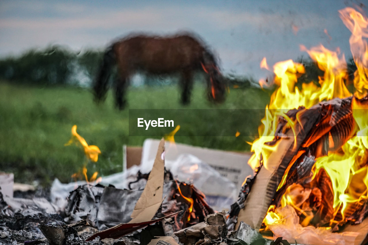
[[[132,229],[117,239],[98,236],[92,241],[86,241],[96,232],[109,228],[111,230],[120,223],[130,221],[147,176],[137,174],[137,178],[129,184],[134,189],[118,189],[111,185],[80,185],[70,192],[65,202],[57,202],[59,206],[50,202],[49,196],[45,194],[49,193],[47,191],[17,193],[14,198],[4,197],[0,192],[0,244],[240,245],[273,242],[263,239],[257,231],[244,223],[240,224],[237,231],[229,232],[226,214],[215,213],[205,202],[202,192],[191,184],[173,180],[169,172],[165,174],[163,188],[166,198],[153,220],[178,211],[180,213]],[[184,196],[193,199],[192,212],[188,211],[190,203],[178,193],[179,187]],[[171,240],[167,240],[167,237]],[[159,239],[163,240],[154,242]]]

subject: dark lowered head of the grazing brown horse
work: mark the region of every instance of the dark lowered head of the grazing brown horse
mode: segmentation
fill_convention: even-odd
[[[215,64],[202,64],[202,68],[209,76],[207,81],[208,99],[216,103],[224,102],[226,83],[221,72],[219,71],[219,68]]]

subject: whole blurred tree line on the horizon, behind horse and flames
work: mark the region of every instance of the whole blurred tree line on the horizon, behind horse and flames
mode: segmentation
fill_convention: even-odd
[[[74,52],[66,47],[52,45],[44,49],[30,49],[20,56],[0,59],[0,79],[34,85],[79,85],[90,86],[102,62],[103,50],[86,49]],[[305,74],[298,79],[301,83],[314,82],[323,76],[318,65],[309,57],[296,60],[305,67]],[[357,69],[352,58],[347,62],[349,80],[354,78]],[[252,78],[226,75],[229,85],[249,87],[258,82]],[[166,77],[146,77],[142,84],[166,85],[173,79]]]

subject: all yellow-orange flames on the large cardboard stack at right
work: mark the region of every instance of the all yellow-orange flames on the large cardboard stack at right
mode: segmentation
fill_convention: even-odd
[[[344,24],[352,32],[350,46],[357,71],[354,74],[355,92],[351,109],[357,127],[355,136],[348,139],[341,149],[335,150],[335,152],[330,151],[327,156],[317,157],[312,168],[314,177],[323,169],[331,180],[334,213],[333,219],[330,220],[330,226],[333,223],[344,223],[344,220],[354,212],[351,210],[356,210],[368,200],[368,121],[366,116],[368,103],[365,102],[366,100],[362,100],[363,98],[367,99],[368,96],[368,45],[367,41],[363,39],[368,38],[368,18],[353,8],[345,8],[339,13]],[[325,33],[328,35],[327,31]],[[323,100],[351,96],[344,83],[347,80],[345,57],[343,54],[340,55],[339,49],[331,51],[320,45],[310,50],[301,46],[301,50],[309,54],[312,60],[318,64],[318,67],[324,71],[324,75],[319,77],[319,86],[311,82],[302,84],[302,89],[299,90],[296,86],[297,79],[300,74],[305,72],[302,64],[287,60],[273,66],[274,83],[279,87],[272,94],[270,103],[266,106],[265,117],[258,129],[259,139],[256,139],[252,144],[251,150],[254,154],[248,164],[253,169],[263,164],[266,169],[272,170],[268,159],[270,154],[277,149],[277,144],[280,141],[276,141],[275,144],[265,143],[273,140],[279,118],[283,117],[293,132],[295,125],[299,123],[298,115],[295,120],[292,120],[286,116],[287,111],[293,108],[297,109],[300,106],[309,109]],[[263,60],[261,67],[262,63]],[[293,164],[293,160],[285,174],[289,171],[291,164]],[[284,184],[284,181],[285,178],[283,178],[279,188]],[[307,200],[312,190],[304,189],[301,185],[292,185],[292,189],[289,188],[282,196],[280,208],[293,207],[298,213],[307,217],[306,222],[302,223],[302,225],[307,226],[311,217],[308,218],[308,214],[304,212],[302,203]],[[275,206],[270,206],[263,220],[265,224],[277,223],[278,220],[282,219],[275,210]]]

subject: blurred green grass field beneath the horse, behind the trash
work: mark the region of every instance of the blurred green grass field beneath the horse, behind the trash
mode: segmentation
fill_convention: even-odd
[[[225,103],[215,106],[205,96],[202,84],[196,83],[188,109],[264,109],[269,92],[260,89],[231,89]],[[176,86],[130,88],[129,109],[180,109]],[[176,142],[196,146],[244,151],[250,150],[243,136],[196,136],[208,125],[195,114],[191,132],[177,136]],[[208,110],[213,111],[213,110]],[[221,131],[222,120],[211,122],[212,130]],[[99,146],[102,154],[97,163],[88,164],[88,174],[99,171],[107,175],[121,171],[122,146],[141,146],[146,137],[129,136],[128,110],[118,111],[111,94],[103,104],[96,105],[89,89],[77,87],[35,87],[0,82],[0,170],[13,172],[15,181],[34,180],[47,185],[55,177],[71,181],[71,174],[83,166],[86,159],[78,146],[64,146],[71,136],[71,127],[89,145]],[[259,122],[237,122],[236,130],[256,134]],[[183,129],[181,129],[183,130]],[[169,132],[167,132],[169,133]],[[248,134],[249,135],[249,134]],[[159,136],[156,138],[160,138]]]

